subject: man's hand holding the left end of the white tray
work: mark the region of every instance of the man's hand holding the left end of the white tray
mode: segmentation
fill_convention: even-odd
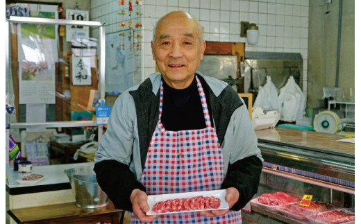
[[[149,223],[157,216],[147,216],[146,212],[151,209],[147,203],[148,196],[140,189],[134,189],[131,193],[131,203],[133,204],[133,213],[142,223]]]

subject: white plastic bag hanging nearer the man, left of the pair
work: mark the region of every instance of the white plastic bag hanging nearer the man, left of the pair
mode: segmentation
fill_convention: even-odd
[[[261,107],[263,110],[277,110],[280,112],[281,106],[278,100],[278,91],[274,83],[271,81],[271,76],[267,77],[267,83],[263,87],[258,87],[259,92],[255,98],[253,107]]]

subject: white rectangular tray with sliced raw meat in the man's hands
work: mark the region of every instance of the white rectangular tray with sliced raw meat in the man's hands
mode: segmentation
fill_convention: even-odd
[[[226,190],[167,193],[148,196],[147,215],[228,209]]]

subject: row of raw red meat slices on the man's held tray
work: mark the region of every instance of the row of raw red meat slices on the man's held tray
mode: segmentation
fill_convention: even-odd
[[[192,198],[176,198],[160,201],[153,205],[152,211],[156,213],[181,212],[190,210],[217,209],[221,200],[213,196],[196,196]]]

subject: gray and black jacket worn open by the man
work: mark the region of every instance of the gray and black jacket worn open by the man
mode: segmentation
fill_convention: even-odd
[[[227,83],[200,73],[197,76],[208,92],[211,119],[223,153],[226,178],[221,189],[235,187],[239,191],[240,198],[231,209],[240,210],[257,192],[263,161],[249,112]],[[159,73],[151,74],[117,98],[96,151],[96,180],[118,209],[132,211],[133,189],[146,191],[140,178],[158,122],[160,80]]]

